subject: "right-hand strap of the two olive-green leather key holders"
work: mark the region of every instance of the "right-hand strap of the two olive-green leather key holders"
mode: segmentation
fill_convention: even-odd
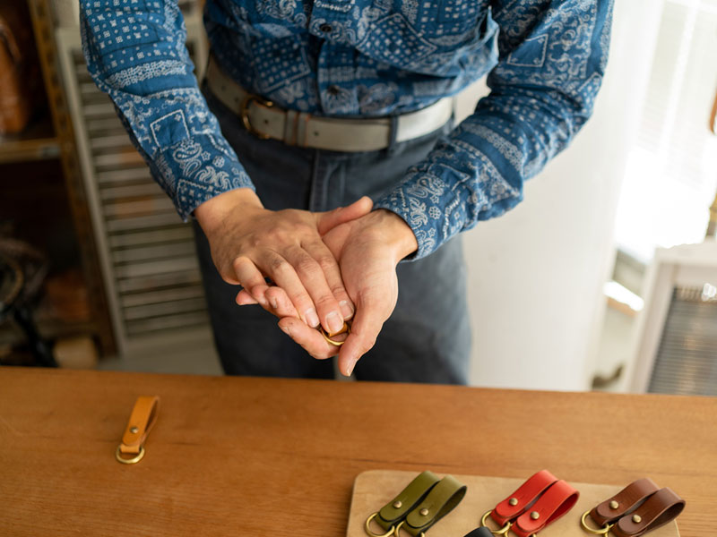
[[[453,475],[446,475],[428,492],[428,496],[396,526],[396,537],[401,537],[401,529],[404,529],[413,537],[425,537],[428,528],[448,515],[461,503],[466,490],[467,487],[455,479]]]

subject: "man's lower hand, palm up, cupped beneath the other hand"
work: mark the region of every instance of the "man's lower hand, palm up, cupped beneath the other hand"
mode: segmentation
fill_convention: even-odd
[[[339,260],[343,283],[356,304],[349,337],[335,347],[297,319],[284,317],[279,327],[315,358],[328,358],[338,351],[339,370],[348,377],[391,316],[398,298],[396,265],[416,251],[418,243],[410,226],[384,209],[339,224],[324,235],[324,243]]]

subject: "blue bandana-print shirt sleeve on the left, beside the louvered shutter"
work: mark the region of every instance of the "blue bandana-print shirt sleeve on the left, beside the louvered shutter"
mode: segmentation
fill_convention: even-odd
[[[81,0],[80,22],[92,79],[181,217],[254,188],[198,88],[177,0]]]

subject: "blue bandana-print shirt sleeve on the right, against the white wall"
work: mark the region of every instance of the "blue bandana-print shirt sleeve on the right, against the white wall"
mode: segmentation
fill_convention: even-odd
[[[473,115],[411,166],[375,207],[411,227],[412,259],[523,199],[523,183],[592,113],[609,49],[612,0],[495,0],[498,62]]]

